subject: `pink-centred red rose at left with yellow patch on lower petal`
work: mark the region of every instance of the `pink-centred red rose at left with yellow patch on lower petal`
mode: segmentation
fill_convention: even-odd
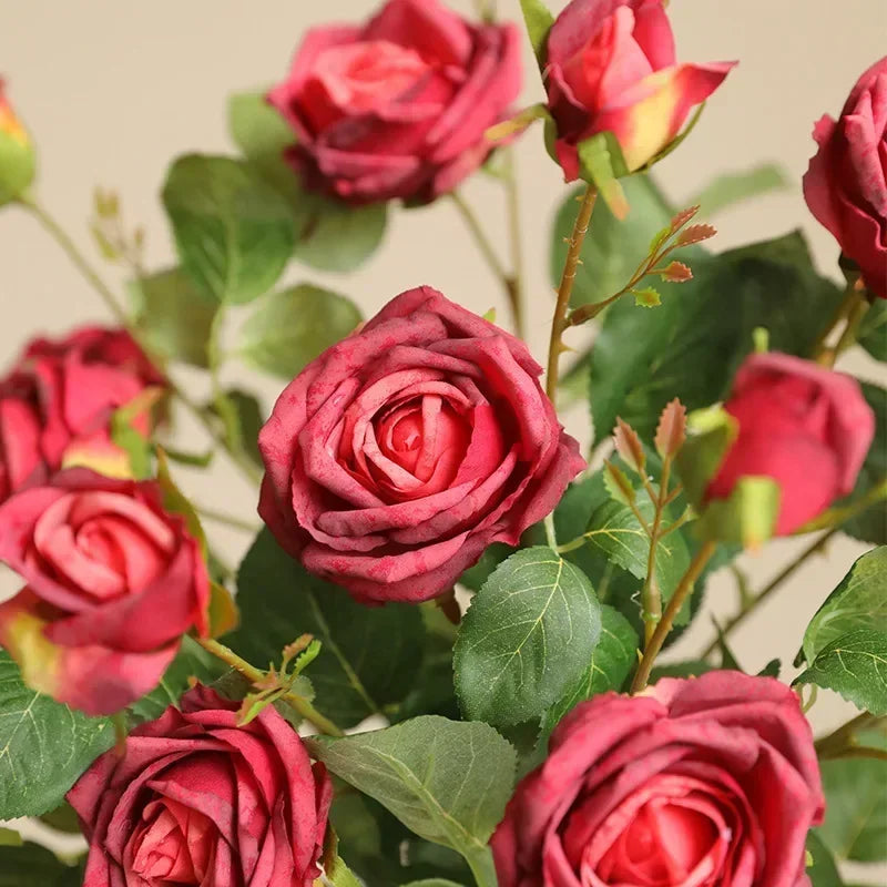
[[[0,560],[28,583],[0,604],[0,644],[30,686],[89,714],[152,690],[182,634],[207,632],[200,546],[153,481],[74,468],[16,493]]]

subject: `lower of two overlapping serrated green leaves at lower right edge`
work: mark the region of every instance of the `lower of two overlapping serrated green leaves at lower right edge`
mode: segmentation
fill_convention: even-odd
[[[871,714],[887,714],[887,633],[857,629],[827,644],[795,679],[840,693]]]

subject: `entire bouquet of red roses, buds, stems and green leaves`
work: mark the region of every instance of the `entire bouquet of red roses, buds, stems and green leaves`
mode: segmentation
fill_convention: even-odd
[[[0,92],[3,212],[35,216],[112,314],[30,339],[0,379],[0,559],[20,577],[0,603],[0,884],[833,887],[887,859],[887,391],[843,371],[887,359],[887,59],[815,124],[823,277],[799,234],[712,245],[711,207],[772,170],[689,207],[659,191],[735,65],[677,61],[664,0],[521,0],[520,23],[495,6],[387,0],[304,34],[279,82],[232,96],[236,156],[172,163],[173,268],[145,267],[98,192],[125,294],[39,198]],[[527,39],[546,101],[521,109]],[[513,143],[540,134],[577,184],[534,355],[526,308],[549,297],[521,273]],[[481,175],[509,261],[459,191]],[[290,261],[353,271],[389,213],[436,201],[509,316],[434,279],[366,320],[278,288]],[[235,318],[237,356],[283,379],[272,409],[223,379]],[[261,523],[179,486],[226,470]],[[238,565],[204,522],[249,534]],[[746,673],[731,633],[838,533],[874,548],[810,590],[793,662]],[[805,548],[751,590],[743,564],[785,537]],[[734,614],[676,657],[725,569]],[[819,689],[858,712],[814,738]],[[19,817],[86,849],[23,840]]]

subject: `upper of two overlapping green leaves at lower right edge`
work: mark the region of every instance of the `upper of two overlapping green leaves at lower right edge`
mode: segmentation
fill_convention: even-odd
[[[854,629],[887,634],[887,546],[863,554],[826,598],[804,632],[804,655],[813,662],[833,641]]]

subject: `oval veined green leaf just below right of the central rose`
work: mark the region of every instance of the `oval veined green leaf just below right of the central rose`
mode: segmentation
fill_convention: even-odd
[[[512,554],[486,582],[456,642],[456,693],[466,715],[519,724],[582,675],[601,631],[585,575],[549,548]]]

